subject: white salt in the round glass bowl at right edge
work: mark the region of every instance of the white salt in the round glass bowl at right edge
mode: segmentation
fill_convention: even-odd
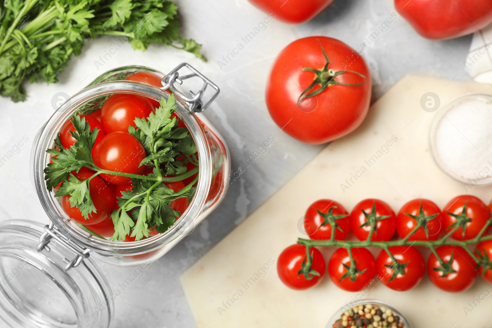
[[[492,103],[463,101],[435,127],[435,155],[444,168],[469,183],[492,177]]]

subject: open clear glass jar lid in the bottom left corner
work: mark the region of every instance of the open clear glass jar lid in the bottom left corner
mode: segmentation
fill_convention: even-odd
[[[65,271],[74,255],[58,240],[37,251],[44,231],[29,220],[0,223],[1,327],[109,327],[113,303],[98,266],[87,258]]]

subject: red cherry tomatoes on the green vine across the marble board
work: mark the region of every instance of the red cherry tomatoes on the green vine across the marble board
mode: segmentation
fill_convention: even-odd
[[[346,239],[351,230],[359,240],[368,240],[371,234],[369,244],[374,242],[376,246],[383,247],[376,259],[364,247],[351,248],[351,254],[344,247],[335,250],[328,262],[328,272],[339,288],[360,291],[381,281],[391,289],[405,291],[417,286],[424,277],[426,263],[418,249],[421,247],[399,245],[384,249],[385,241],[396,239],[395,235],[408,241],[436,241],[445,238],[453,230],[449,237],[455,240],[475,239],[481,231],[487,233],[488,228],[485,226],[489,224],[491,206],[492,202],[488,207],[477,197],[462,195],[452,199],[442,211],[430,200],[415,199],[403,205],[395,214],[387,203],[366,199],[349,213],[338,202],[323,199],[307,209],[304,228],[310,239],[329,240],[332,237],[332,224],[329,222],[335,222],[335,240]],[[419,221],[420,227],[416,229]],[[375,229],[371,222],[375,222]],[[374,230],[372,233],[371,229]],[[388,253],[397,260],[398,266],[394,266],[395,262]],[[470,253],[459,245],[445,242],[435,249],[432,247],[427,260],[431,282],[448,292],[468,289],[477,274],[492,283],[489,261],[492,260],[492,239],[480,241],[476,245],[475,258]],[[308,261],[309,274],[302,270]],[[351,267],[351,263],[355,264],[355,268]],[[278,276],[293,289],[307,289],[316,285],[325,271],[325,260],[315,247],[310,247],[307,254],[306,245],[290,245],[278,257]]]

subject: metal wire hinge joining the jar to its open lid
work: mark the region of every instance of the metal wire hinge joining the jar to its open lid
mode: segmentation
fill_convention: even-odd
[[[63,236],[63,233],[55,227],[53,222],[50,221],[49,225],[44,226],[44,233],[41,235],[39,238],[39,245],[37,246],[37,251],[40,252],[41,250],[45,249],[46,251],[50,251],[51,248],[49,246],[49,243],[51,239],[56,239],[60,244],[65,246],[65,248],[69,249],[73,253],[75,253],[75,257],[71,260],[64,258],[63,262],[66,263],[65,268],[63,268],[63,271],[68,271],[70,268],[75,268],[79,264],[82,263],[84,259],[87,259],[89,257],[89,252],[90,249],[84,248],[77,244],[76,242],[73,242],[72,240],[66,238]]]

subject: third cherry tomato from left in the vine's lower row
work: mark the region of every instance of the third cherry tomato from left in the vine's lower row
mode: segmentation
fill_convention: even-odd
[[[383,284],[396,291],[407,291],[417,286],[426,273],[426,263],[417,248],[393,246],[388,249],[398,264],[395,265],[388,253],[381,250],[376,268]]]

